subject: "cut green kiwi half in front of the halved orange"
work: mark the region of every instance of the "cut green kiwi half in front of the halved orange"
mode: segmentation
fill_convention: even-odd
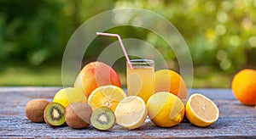
[[[108,107],[96,108],[91,114],[90,124],[100,131],[108,131],[115,125],[115,115]]]

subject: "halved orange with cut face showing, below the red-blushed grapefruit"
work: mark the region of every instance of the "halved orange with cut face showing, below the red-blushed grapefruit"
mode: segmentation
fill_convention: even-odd
[[[114,112],[118,103],[125,97],[125,91],[118,86],[99,86],[91,92],[88,103],[93,110],[105,106],[111,108]]]

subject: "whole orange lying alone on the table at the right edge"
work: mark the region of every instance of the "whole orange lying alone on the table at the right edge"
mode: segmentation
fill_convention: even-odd
[[[246,105],[256,105],[256,70],[242,69],[232,80],[232,91],[236,99]]]

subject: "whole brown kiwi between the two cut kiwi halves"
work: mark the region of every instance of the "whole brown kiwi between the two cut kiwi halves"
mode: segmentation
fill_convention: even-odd
[[[92,108],[88,103],[72,103],[65,112],[66,124],[75,129],[85,128],[90,125]]]

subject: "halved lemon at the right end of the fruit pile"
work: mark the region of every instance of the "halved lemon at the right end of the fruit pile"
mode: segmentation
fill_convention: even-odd
[[[218,107],[209,98],[195,93],[186,103],[186,117],[193,125],[211,125],[218,120]]]

